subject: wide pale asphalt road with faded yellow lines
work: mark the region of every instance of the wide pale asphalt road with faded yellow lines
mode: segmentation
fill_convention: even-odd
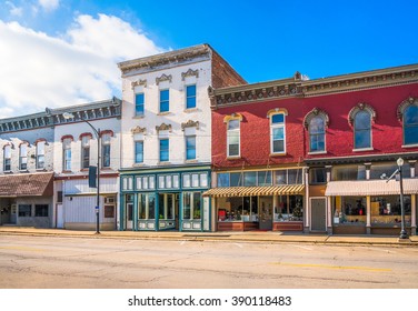
[[[418,248],[0,237],[2,289],[418,288]]]

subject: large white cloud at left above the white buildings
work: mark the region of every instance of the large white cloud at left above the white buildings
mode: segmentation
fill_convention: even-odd
[[[117,61],[162,52],[116,17],[77,18],[67,38],[0,20],[0,118],[120,94]]]

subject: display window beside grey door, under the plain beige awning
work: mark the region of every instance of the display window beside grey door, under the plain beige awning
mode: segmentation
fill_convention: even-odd
[[[336,197],[334,223],[366,223],[366,197]]]

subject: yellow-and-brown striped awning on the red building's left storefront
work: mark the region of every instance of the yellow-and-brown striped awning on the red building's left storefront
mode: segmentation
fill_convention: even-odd
[[[203,197],[231,198],[257,195],[302,194],[305,184],[266,185],[266,187],[226,187],[213,188],[203,193]]]

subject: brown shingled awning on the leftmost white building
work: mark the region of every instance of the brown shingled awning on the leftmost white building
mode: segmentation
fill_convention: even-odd
[[[53,195],[53,173],[28,173],[0,177],[0,197],[42,195]]]

